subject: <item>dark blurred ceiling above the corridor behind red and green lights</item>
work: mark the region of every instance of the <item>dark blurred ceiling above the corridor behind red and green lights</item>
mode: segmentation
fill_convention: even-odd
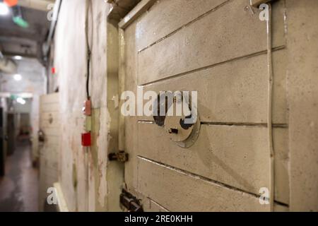
[[[1,0],[0,0],[1,1]],[[37,0],[39,2],[41,0]],[[23,2],[23,1],[21,1]],[[48,2],[47,0],[43,2]],[[0,50],[4,56],[36,57],[42,59],[42,43],[47,37],[50,22],[47,11],[20,7],[23,19],[29,23],[22,28],[13,22],[13,10],[6,16],[0,16]]]

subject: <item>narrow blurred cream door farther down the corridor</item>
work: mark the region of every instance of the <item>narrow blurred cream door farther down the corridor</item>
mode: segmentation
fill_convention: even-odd
[[[58,149],[60,138],[59,93],[40,97],[40,210],[45,210],[47,189],[58,181]],[[47,206],[47,204],[46,204]]]

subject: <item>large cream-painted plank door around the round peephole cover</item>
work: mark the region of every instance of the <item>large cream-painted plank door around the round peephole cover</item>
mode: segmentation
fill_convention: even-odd
[[[270,210],[259,202],[272,177],[266,21],[249,0],[151,2],[119,23],[124,90],[197,91],[201,129],[181,148],[153,117],[126,117],[127,189],[146,211]],[[275,210],[289,203],[283,8],[273,4]]]

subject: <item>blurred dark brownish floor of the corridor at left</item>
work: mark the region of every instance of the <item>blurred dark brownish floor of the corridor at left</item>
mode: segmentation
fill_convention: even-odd
[[[6,159],[6,176],[0,177],[0,212],[38,211],[38,171],[30,160],[30,143],[20,141]]]

